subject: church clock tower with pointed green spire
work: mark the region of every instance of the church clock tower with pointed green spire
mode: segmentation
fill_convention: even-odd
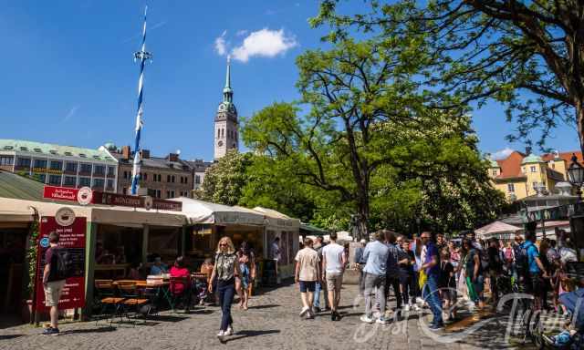
[[[227,57],[227,74],[223,89],[223,102],[217,108],[215,116],[214,159],[218,160],[229,149],[239,149],[239,131],[237,129],[237,109],[234,105],[234,90],[231,89],[231,59]]]

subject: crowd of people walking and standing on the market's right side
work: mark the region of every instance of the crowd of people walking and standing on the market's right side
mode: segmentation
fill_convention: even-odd
[[[365,299],[360,320],[386,324],[396,314],[427,306],[433,314],[430,329],[439,330],[444,321],[457,318],[461,301],[468,309],[481,311],[495,308],[500,297],[512,291],[533,295],[537,309],[562,312],[558,296],[576,288],[566,266],[578,258],[565,232],[558,231],[557,238],[537,242],[535,232],[526,232],[517,233],[512,242],[483,241],[469,232],[447,240],[440,233],[422,232],[410,239],[389,230],[375,232],[371,242],[360,242],[352,259]],[[341,318],[340,283],[349,254],[336,241],[334,233],[330,242],[307,238],[297,252],[300,316],[313,318],[322,306],[330,309],[331,320]],[[395,297],[393,309],[387,307],[390,293]]]

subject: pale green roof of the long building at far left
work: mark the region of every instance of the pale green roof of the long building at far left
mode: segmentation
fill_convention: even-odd
[[[24,139],[0,139],[0,151],[2,150],[37,153],[49,157],[50,155],[55,155],[60,157],[75,157],[85,160],[116,161],[104,150],[60,146],[51,143],[27,141]]]

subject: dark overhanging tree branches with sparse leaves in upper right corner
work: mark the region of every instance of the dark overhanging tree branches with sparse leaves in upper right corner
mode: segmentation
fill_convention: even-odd
[[[356,30],[391,41],[410,36],[431,47],[420,74],[434,108],[506,104],[518,128],[509,139],[538,145],[560,123],[578,129],[584,146],[584,11],[575,0],[367,1],[343,15],[338,0],[321,1],[313,26],[328,24],[333,42]],[[450,100],[444,103],[444,93]],[[432,97],[438,97],[438,103]]]

